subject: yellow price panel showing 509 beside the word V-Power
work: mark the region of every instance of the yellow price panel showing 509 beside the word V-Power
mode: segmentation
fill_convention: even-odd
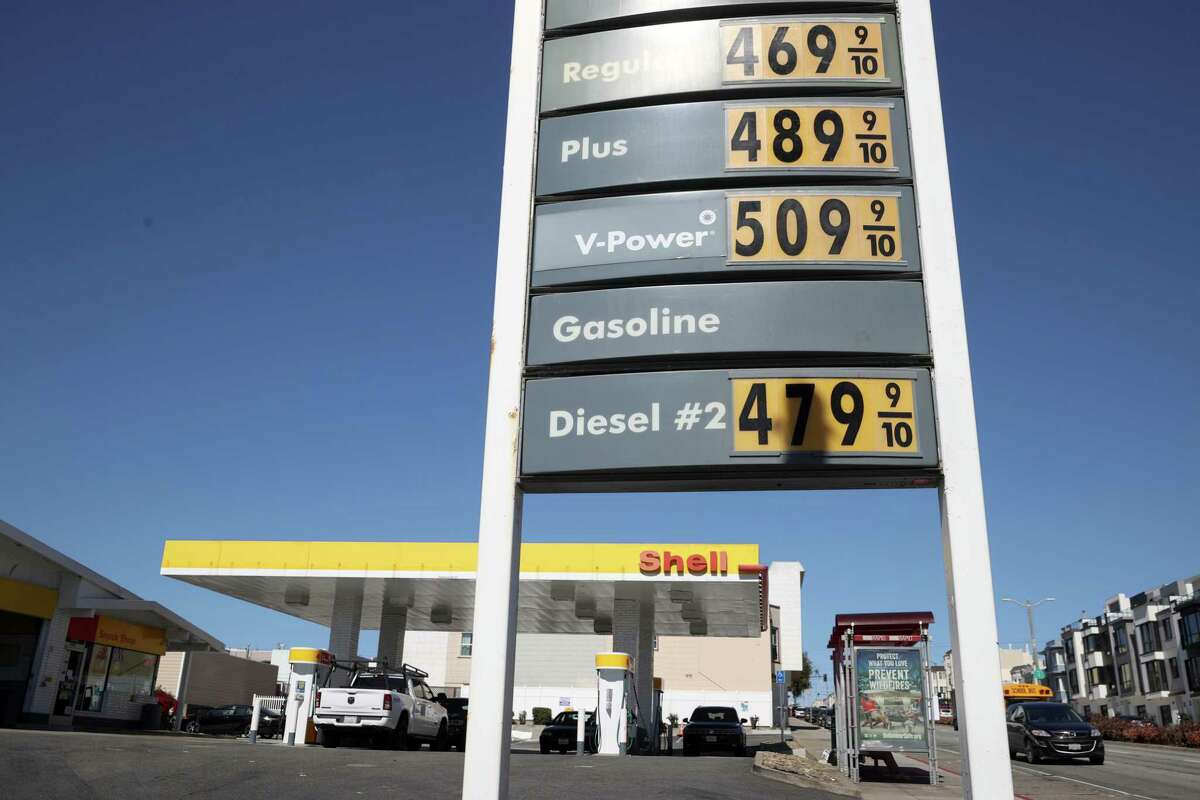
[[[740,192],[725,201],[730,264],[904,264],[899,192]]]

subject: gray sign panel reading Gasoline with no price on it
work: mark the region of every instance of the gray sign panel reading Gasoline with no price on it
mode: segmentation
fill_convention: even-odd
[[[715,354],[929,354],[914,281],[635,287],[536,296],[527,363]]]

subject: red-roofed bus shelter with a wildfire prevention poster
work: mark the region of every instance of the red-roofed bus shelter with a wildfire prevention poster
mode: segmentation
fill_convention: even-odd
[[[863,758],[895,764],[894,753],[929,759],[937,783],[937,740],[929,711],[931,612],[838,614],[828,646],[834,667],[838,768],[862,780]]]

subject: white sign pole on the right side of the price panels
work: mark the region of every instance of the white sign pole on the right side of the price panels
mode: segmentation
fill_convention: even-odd
[[[966,798],[1012,798],[971,360],[930,0],[899,0],[917,222],[942,446],[942,547]]]

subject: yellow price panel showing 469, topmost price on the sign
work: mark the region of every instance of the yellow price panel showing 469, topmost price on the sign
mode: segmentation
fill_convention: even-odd
[[[886,83],[883,18],[731,19],[721,23],[721,80]]]

